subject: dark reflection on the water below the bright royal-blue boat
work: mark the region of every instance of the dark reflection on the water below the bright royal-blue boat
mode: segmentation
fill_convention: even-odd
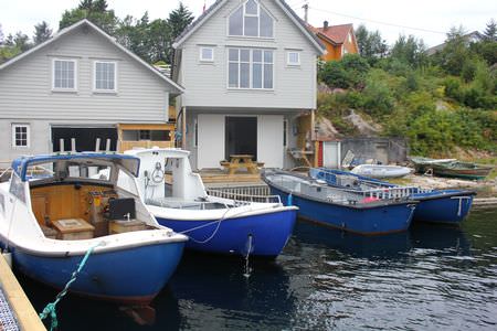
[[[247,324],[278,328],[287,324],[296,298],[288,275],[274,260],[251,260],[187,253],[171,279],[181,314],[181,329],[240,329]]]

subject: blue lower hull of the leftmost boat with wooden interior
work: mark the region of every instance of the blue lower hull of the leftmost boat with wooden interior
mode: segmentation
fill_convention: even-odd
[[[92,254],[70,292],[120,305],[148,305],[168,282],[181,258],[184,242],[154,244]],[[62,289],[84,255],[44,256],[13,248],[18,270]]]

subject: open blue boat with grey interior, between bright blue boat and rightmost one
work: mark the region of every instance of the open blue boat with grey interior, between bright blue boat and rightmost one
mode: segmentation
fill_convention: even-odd
[[[263,180],[282,201],[298,206],[299,217],[361,235],[406,231],[417,202],[380,200],[285,171],[266,171]]]

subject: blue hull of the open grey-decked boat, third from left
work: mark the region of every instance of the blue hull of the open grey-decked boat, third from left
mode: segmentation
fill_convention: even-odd
[[[288,193],[271,186],[288,203]],[[374,207],[351,207],[306,199],[292,194],[292,204],[298,206],[298,216],[324,225],[361,235],[382,235],[406,231],[411,224],[415,203],[385,204]]]

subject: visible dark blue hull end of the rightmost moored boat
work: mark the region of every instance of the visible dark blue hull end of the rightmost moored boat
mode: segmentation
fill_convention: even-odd
[[[456,190],[412,194],[411,197],[420,202],[414,222],[458,224],[469,213],[474,194]]]

